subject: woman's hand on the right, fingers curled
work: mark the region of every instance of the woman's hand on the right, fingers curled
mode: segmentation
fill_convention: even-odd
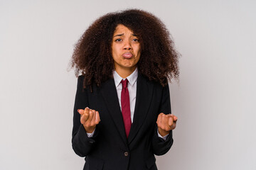
[[[160,113],[156,121],[159,128],[159,134],[161,136],[169,134],[170,130],[174,130],[176,128],[177,120],[178,118],[175,115],[165,115],[164,113]]]

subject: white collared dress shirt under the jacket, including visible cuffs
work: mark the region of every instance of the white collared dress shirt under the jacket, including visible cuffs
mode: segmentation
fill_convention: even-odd
[[[120,109],[122,111],[122,106],[121,106],[121,92],[122,92],[122,77],[119,76],[119,74],[117,74],[116,71],[113,72],[113,77],[114,77],[114,84],[117,88],[117,97],[118,97],[118,101],[119,101],[119,106]],[[132,72],[132,74],[129,75],[129,77],[127,77],[126,79],[128,79],[128,85],[127,85],[127,89],[129,91],[129,101],[130,101],[130,109],[131,109],[131,120],[133,123],[133,118],[134,118],[134,109],[135,109],[135,103],[136,103],[136,93],[137,93],[137,78],[138,78],[138,69],[136,68],[134,70],[134,72]],[[125,80],[125,79],[123,79]],[[92,137],[92,135],[94,134],[95,131],[93,131],[92,133],[87,133],[88,137]],[[166,140],[168,135],[165,135],[164,137],[162,137],[158,132],[158,136],[163,138],[164,140]]]

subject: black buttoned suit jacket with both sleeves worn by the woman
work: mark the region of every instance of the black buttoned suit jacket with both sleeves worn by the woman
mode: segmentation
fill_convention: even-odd
[[[139,74],[134,120],[127,139],[114,79],[100,87],[93,85],[92,89],[82,88],[83,79],[78,77],[72,146],[76,154],[85,157],[84,170],[157,169],[154,154],[165,154],[173,144],[172,132],[163,140],[156,131],[159,113],[171,113],[169,86],[163,87]],[[85,107],[100,113],[100,123],[90,138],[78,113],[79,108]]]

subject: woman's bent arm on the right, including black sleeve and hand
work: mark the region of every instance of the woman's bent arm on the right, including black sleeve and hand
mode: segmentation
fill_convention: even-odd
[[[154,136],[152,139],[153,151],[154,151],[154,154],[156,154],[156,155],[166,154],[166,152],[168,152],[169,149],[171,148],[171,145],[173,144],[173,141],[174,141],[172,138],[172,130],[174,129],[174,126],[171,126],[171,128],[168,127],[169,129],[165,129],[163,127],[164,123],[166,122],[166,119],[167,119],[167,124],[174,120],[174,119],[169,120],[169,119],[171,119],[170,115],[163,114],[163,113],[165,113],[165,114],[171,113],[169,85],[164,86],[161,96],[162,96],[161,106],[159,108],[160,114],[157,119],[157,124],[156,124],[155,130],[154,130]],[[164,117],[164,118],[162,118],[162,117]],[[173,115],[172,115],[172,118],[173,118]],[[163,120],[163,121],[159,121],[159,119]],[[161,122],[163,122],[163,123],[161,123]],[[159,130],[159,133],[161,136],[165,136],[165,135],[169,134],[168,137],[166,138],[166,140],[159,137],[157,130]]]

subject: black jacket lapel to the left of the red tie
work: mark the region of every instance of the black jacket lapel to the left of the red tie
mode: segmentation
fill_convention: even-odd
[[[117,126],[117,130],[122,137],[122,140],[124,140],[124,143],[127,144],[127,137],[124,130],[124,122],[117,97],[117,89],[114,85],[114,79],[109,79],[103,83],[100,91],[105,100],[107,109],[114,120],[114,124]]]

